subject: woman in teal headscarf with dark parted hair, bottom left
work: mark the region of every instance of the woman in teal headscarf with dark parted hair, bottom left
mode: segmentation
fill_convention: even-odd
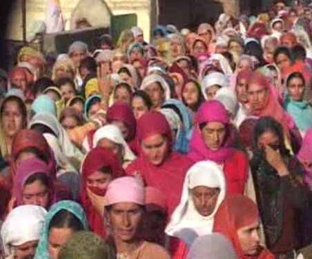
[[[51,207],[41,229],[35,259],[57,259],[66,240],[77,231],[88,230],[86,214],[71,200],[62,200]]]

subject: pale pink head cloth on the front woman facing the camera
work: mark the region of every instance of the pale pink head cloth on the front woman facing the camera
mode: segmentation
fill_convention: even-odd
[[[132,176],[124,176],[113,180],[106,191],[106,205],[115,203],[137,203],[145,205],[144,187]]]

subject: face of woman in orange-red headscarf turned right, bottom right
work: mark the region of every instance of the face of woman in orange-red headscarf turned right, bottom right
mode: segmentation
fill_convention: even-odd
[[[259,222],[242,227],[237,230],[237,238],[240,241],[240,247],[246,256],[255,256],[260,244]]]

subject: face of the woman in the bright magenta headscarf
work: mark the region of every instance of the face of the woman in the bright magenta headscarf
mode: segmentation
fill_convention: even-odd
[[[226,126],[217,121],[206,123],[202,129],[202,139],[211,150],[220,149],[226,136]]]

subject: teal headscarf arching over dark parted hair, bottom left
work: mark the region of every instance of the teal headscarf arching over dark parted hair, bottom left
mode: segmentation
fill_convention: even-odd
[[[43,227],[41,229],[39,244],[34,259],[51,258],[48,252],[49,226],[51,220],[61,210],[69,211],[81,222],[81,225],[83,225],[84,229],[88,230],[88,221],[86,220],[86,214],[84,213],[84,209],[82,209],[82,207],[78,203],[75,203],[72,200],[61,200],[58,203],[55,203],[55,205],[53,205],[48,211],[48,214],[46,215],[46,218],[44,220]]]

